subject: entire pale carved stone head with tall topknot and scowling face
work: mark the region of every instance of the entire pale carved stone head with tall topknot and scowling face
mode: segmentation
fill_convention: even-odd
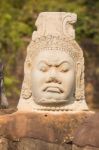
[[[18,110],[87,110],[84,58],[72,24],[77,15],[44,12],[36,21],[24,64]]]

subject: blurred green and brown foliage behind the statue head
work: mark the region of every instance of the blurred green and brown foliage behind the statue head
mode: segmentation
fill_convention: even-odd
[[[77,13],[76,39],[85,49],[88,79],[94,73],[99,75],[98,0],[0,0],[0,58],[5,64],[8,97],[19,96],[26,47],[35,30],[36,18],[43,11]]]

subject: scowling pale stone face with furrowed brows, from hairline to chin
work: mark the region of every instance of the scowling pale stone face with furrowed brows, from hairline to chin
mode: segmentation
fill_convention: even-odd
[[[35,103],[62,104],[70,101],[75,87],[75,63],[65,52],[43,50],[33,60],[32,94]]]

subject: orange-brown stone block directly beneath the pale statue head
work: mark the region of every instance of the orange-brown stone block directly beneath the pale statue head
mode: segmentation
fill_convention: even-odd
[[[0,136],[12,140],[28,137],[52,143],[69,143],[91,112],[16,112],[0,116]]]

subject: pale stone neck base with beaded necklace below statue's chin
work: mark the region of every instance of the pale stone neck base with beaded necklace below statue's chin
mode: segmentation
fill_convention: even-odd
[[[34,112],[34,111],[88,111],[87,104],[85,100],[80,101],[73,101],[69,104],[61,104],[61,105],[38,105],[34,102],[32,98],[25,100],[20,99],[18,104],[18,111],[27,111],[27,112]]]

